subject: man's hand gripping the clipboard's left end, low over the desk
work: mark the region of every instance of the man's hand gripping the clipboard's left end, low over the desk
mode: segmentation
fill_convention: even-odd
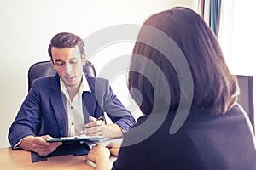
[[[21,141],[19,146],[22,149],[34,151],[39,156],[47,156],[62,144],[62,142],[46,142],[46,139],[49,138],[49,135],[37,137],[27,136]]]

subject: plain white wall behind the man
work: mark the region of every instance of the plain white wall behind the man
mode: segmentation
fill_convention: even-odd
[[[49,59],[51,37],[70,31],[84,39],[106,26],[142,24],[150,14],[177,5],[197,10],[197,0],[0,0],[0,147],[9,146],[9,126],[27,94],[28,68]],[[96,71],[108,59],[131,54],[131,44],[116,45],[91,59]],[[112,82],[119,99],[129,104],[125,79],[116,77]]]

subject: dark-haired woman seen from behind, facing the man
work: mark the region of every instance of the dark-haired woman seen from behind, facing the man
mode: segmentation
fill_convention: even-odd
[[[128,81],[144,116],[125,134],[113,169],[256,169],[236,77],[193,10],[172,8],[145,21]],[[87,159],[110,169],[110,151],[97,145]]]

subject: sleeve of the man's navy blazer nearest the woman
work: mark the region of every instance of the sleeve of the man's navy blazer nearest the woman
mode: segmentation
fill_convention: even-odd
[[[97,78],[95,90],[98,104],[101,105],[112,122],[118,124],[124,132],[129,130],[134,125],[135,119],[113,93],[108,80]]]

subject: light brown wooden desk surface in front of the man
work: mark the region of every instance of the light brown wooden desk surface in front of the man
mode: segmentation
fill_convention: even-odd
[[[55,156],[47,161],[32,163],[31,152],[0,148],[1,169],[95,169],[86,163],[84,156]]]

